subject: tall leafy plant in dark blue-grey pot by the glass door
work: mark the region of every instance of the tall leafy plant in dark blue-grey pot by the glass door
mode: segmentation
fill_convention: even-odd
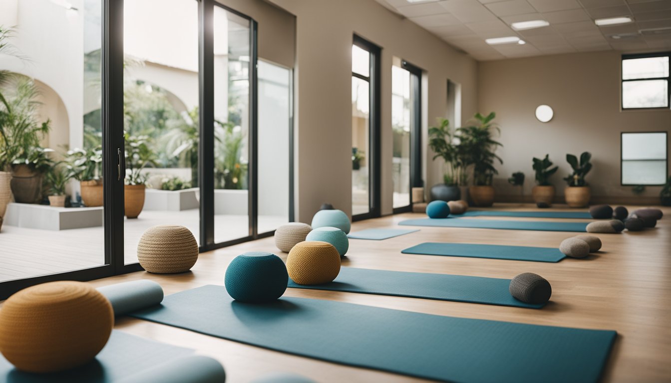
[[[444,182],[431,186],[431,201],[457,201],[461,199],[459,181],[464,172],[459,147],[455,144],[455,132],[450,129],[450,121],[446,118],[438,118],[437,121],[437,126],[429,127],[429,148],[435,153],[433,160],[443,159],[445,169]]]

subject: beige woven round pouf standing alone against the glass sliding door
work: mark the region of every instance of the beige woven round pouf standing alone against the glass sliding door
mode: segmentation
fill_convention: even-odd
[[[198,243],[189,229],[180,225],[158,225],[142,234],[138,261],[148,272],[187,272],[198,260]]]

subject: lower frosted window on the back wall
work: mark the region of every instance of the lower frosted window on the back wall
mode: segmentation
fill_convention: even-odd
[[[621,184],[664,184],[668,166],[666,140],[666,131],[622,133]]]

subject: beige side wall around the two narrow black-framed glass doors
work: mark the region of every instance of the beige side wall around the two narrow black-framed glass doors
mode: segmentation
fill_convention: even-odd
[[[476,62],[374,0],[268,1],[297,17],[297,220],[310,222],[324,202],[346,213],[351,211],[353,34],[382,47],[382,214],[392,213],[393,56],[426,71],[424,131],[427,123],[447,113],[448,78],[462,84],[464,115],[476,111]],[[430,161],[430,154],[424,157],[425,162],[427,158]],[[438,182],[440,168],[435,170],[429,162],[423,178],[429,186]]]

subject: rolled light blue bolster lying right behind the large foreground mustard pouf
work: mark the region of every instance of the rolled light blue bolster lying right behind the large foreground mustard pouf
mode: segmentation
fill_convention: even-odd
[[[163,300],[161,285],[153,280],[134,280],[99,287],[114,309],[114,315],[126,315],[140,309],[158,305]]]

